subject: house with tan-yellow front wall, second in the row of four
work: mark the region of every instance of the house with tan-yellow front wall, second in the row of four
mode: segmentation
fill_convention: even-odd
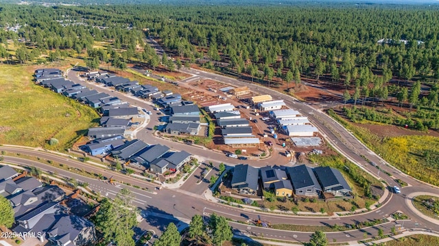
[[[261,183],[263,189],[274,191],[277,196],[292,197],[293,187],[288,179],[287,172],[280,167],[261,167]]]

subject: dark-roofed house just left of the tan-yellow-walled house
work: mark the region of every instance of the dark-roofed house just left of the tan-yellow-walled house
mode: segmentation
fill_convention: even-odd
[[[232,189],[241,194],[257,195],[259,190],[259,170],[247,164],[235,166],[232,177]]]

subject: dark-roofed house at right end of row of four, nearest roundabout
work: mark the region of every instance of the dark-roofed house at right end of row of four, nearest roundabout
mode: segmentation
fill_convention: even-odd
[[[351,187],[349,187],[348,182],[346,182],[342,173],[337,169],[332,167],[316,167],[313,171],[324,192],[332,193],[335,196],[351,194]]]

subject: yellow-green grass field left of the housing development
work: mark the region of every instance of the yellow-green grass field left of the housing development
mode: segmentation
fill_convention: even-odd
[[[69,148],[99,115],[32,81],[36,66],[0,66],[0,143]],[[49,146],[54,137],[59,143]]]

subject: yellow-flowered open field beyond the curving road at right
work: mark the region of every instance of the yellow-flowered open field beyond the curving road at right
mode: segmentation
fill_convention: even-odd
[[[429,135],[404,135],[383,137],[372,133],[366,127],[354,125],[329,111],[329,115],[343,124],[374,152],[400,169],[430,184],[439,184],[436,175],[439,170],[439,137]]]

